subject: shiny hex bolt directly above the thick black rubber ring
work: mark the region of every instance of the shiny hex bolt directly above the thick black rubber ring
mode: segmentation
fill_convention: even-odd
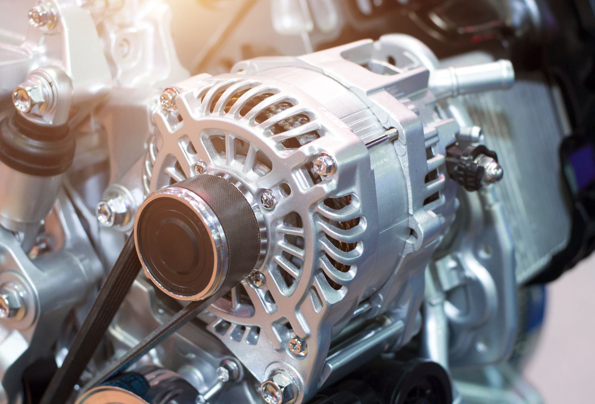
[[[51,84],[45,77],[32,75],[12,92],[12,104],[23,114],[43,115],[53,106]]]

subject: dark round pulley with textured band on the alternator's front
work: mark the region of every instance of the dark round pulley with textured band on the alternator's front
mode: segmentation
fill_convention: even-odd
[[[260,250],[258,221],[244,195],[229,181],[202,174],[174,184],[203,199],[227,240],[228,276],[241,281],[254,269]],[[137,248],[147,270],[168,291],[193,296],[208,286],[215,270],[211,234],[198,214],[181,201],[156,198],[140,212]],[[233,276],[233,275],[232,275]]]

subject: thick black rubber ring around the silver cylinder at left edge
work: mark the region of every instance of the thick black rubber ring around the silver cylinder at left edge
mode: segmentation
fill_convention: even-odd
[[[73,162],[76,140],[68,125],[45,127],[20,114],[0,123],[0,161],[21,173],[51,177]]]

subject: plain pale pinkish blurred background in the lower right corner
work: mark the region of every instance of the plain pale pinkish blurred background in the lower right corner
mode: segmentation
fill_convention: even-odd
[[[546,404],[593,403],[595,255],[547,286],[546,315],[525,377]]]

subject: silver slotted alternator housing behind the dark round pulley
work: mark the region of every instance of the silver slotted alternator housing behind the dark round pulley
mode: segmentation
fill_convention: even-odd
[[[240,62],[162,95],[146,192],[220,176],[259,222],[255,270],[203,319],[267,402],[305,402],[418,332],[424,269],[458,206],[445,156],[459,126],[437,99],[513,80],[508,61],[437,65],[422,43],[388,35]],[[345,327],[356,318],[378,332]]]

